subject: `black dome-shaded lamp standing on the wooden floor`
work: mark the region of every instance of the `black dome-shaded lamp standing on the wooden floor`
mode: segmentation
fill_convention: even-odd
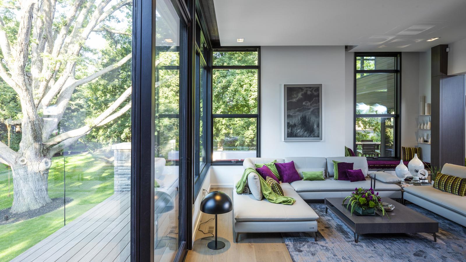
[[[217,241],[217,215],[232,211],[232,200],[226,193],[213,191],[206,194],[206,196],[202,199],[200,210],[203,213],[215,215],[215,240],[210,241],[207,244],[207,247],[210,249],[224,248],[225,243],[222,241]]]

